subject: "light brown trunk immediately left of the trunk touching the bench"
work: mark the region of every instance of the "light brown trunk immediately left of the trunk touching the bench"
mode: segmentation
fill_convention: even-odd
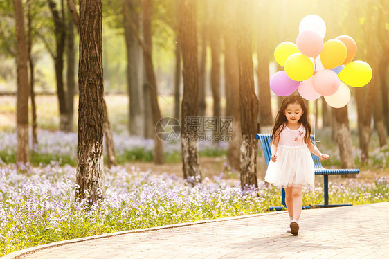
[[[232,168],[240,171],[240,146],[242,132],[239,111],[239,59],[237,55],[237,17],[235,0],[224,2],[224,75],[226,76],[227,116],[233,117],[233,141],[228,143],[227,160]],[[228,22],[227,22],[228,21]]]

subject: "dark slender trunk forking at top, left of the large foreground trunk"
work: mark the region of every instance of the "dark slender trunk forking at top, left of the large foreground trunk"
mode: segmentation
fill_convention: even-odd
[[[54,56],[55,78],[57,80],[57,96],[60,107],[60,130],[69,130],[68,107],[66,104],[66,94],[64,90],[64,78],[62,72],[64,70],[64,47],[65,47],[65,21],[64,21],[64,0],[61,0],[62,15],[58,12],[57,4],[53,0],[47,0],[48,6],[53,15],[55,27],[55,46],[56,53]]]

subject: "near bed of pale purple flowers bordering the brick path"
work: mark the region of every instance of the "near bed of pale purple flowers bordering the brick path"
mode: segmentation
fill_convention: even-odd
[[[263,213],[279,205],[277,188],[260,182],[242,190],[222,175],[191,187],[176,175],[123,166],[105,172],[105,199],[75,202],[75,168],[51,163],[0,169],[0,256],[39,244],[152,226]],[[330,203],[389,201],[389,177],[330,185]],[[304,204],[323,203],[321,186],[303,192]]]

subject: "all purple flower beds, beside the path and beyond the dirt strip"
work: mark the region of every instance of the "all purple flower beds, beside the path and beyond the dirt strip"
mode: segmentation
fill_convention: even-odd
[[[153,142],[114,134],[120,166],[105,171],[105,199],[89,207],[75,202],[77,134],[39,130],[31,165],[15,165],[15,133],[0,132],[0,256],[60,240],[152,226],[264,213],[281,204],[280,191],[260,181],[258,190],[240,188],[236,172],[224,163],[224,175],[208,174],[192,187],[177,174],[141,170],[131,164],[152,161]],[[329,132],[320,132],[319,145],[338,165]],[[372,139],[372,145],[375,139]],[[199,143],[201,157],[226,155],[228,143]],[[179,143],[165,143],[168,165],[181,161]],[[354,151],[357,166],[358,150]],[[261,150],[258,150],[261,157]],[[223,163],[224,159],[220,159]],[[259,168],[264,166],[259,163]],[[330,203],[369,204],[389,201],[388,150],[373,149],[369,168],[383,170],[377,179],[359,178],[330,183]],[[365,170],[369,170],[365,168]],[[229,176],[229,177],[228,177]],[[232,177],[232,178],[231,178]],[[321,179],[321,178],[320,178]],[[331,181],[331,179],[330,179]],[[303,192],[306,205],[323,204],[323,188]]]

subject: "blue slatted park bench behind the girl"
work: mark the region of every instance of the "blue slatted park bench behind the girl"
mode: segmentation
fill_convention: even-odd
[[[266,165],[269,165],[271,159],[271,134],[255,134],[255,139],[260,139],[262,150],[264,152],[264,158],[266,160]],[[314,136],[312,136],[312,141],[315,144]],[[312,159],[314,160],[315,166],[315,175],[323,175],[324,177],[324,204],[318,205],[319,207],[328,208],[328,207],[338,207],[338,206],[350,206],[352,204],[328,204],[328,175],[349,175],[349,174],[358,174],[359,169],[326,169],[321,165],[319,157],[315,154],[312,154]],[[285,204],[285,190],[282,188],[282,205]],[[302,208],[310,208],[309,206],[303,206]],[[281,211],[283,207],[270,207],[270,211]]]

